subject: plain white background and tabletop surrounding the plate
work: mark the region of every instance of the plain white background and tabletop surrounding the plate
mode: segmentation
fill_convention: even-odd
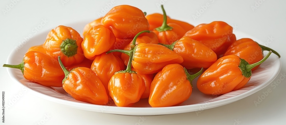
[[[65,3],[65,1],[67,2]],[[256,2],[258,2],[257,9],[253,11],[251,6],[255,7]],[[25,44],[21,41],[29,34],[33,37],[57,25],[92,21],[99,17],[98,14],[101,13],[102,8],[109,8],[107,3],[111,3],[111,1],[17,1],[11,10],[8,8],[8,13],[4,15],[3,9],[7,8],[6,5],[9,6],[13,3],[1,1],[0,64],[5,64],[12,49]],[[160,8],[156,5],[160,3],[164,4],[165,10],[171,18],[188,21],[193,25],[210,23],[214,20],[225,21],[236,27],[235,30],[257,38],[254,40],[262,40],[261,43],[281,54],[282,64],[286,62],[283,51],[286,45],[286,9],[284,7],[286,1],[204,0],[178,3],[171,0],[150,0],[147,2],[115,1],[115,4],[111,5],[114,7],[129,4],[147,13],[161,13]],[[206,3],[209,3],[210,6],[206,7],[198,19],[194,20],[192,15],[196,15],[196,11],[205,8],[202,6]],[[47,23],[42,23],[43,26],[39,26],[41,29],[36,31],[34,27],[40,25],[42,19]],[[23,55],[23,53],[19,54]],[[283,78],[285,72],[285,66],[282,65],[281,74],[269,86],[247,98],[225,106],[201,112],[144,117],[78,110],[43,100],[31,95],[26,88],[11,80],[7,75],[6,68],[0,68],[0,88],[1,91],[5,91],[6,103],[10,103],[10,107],[6,107],[5,110],[5,124],[37,124],[37,122],[43,124],[285,124],[286,91],[284,89],[286,85],[285,78]],[[279,82],[281,83],[277,84]],[[267,94],[267,91],[270,93]],[[255,101],[259,104],[255,104]],[[1,122],[1,124],[3,123]]]

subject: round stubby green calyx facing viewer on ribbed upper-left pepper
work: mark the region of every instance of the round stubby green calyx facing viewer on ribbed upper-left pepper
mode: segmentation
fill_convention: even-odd
[[[59,47],[61,48],[61,52],[67,57],[76,55],[78,51],[78,45],[74,39],[67,38],[63,40]]]

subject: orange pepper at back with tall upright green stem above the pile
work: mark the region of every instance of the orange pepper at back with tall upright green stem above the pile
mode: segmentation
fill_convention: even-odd
[[[163,5],[161,5],[161,8],[164,13],[164,20],[162,26],[155,28],[153,32],[158,36],[159,43],[172,44],[174,41],[180,39],[186,31],[176,23],[167,24],[167,16]]]

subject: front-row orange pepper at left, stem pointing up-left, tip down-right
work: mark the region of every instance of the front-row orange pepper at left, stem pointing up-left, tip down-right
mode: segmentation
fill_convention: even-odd
[[[58,60],[61,72],[65,74],[62,80],[65,92],[83,102],[97,105],[108,103],[108,96],[102,82],[90,68],[78,67],[69,72],[63,66],[60,56]]]

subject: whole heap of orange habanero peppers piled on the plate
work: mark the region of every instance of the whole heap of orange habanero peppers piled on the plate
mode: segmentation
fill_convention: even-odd
[[[145,98],[152,107],[168,107],[188,100],[192,84],[208,95],[243,88],[271,53],[280,57],[250,38],[237,39],[223,21],[194,27],[161,8],[163,14],[146,15],[130,5],[113,7],[86,24],[83,37],[57,26],[19,65],[3,67],[90,104],[129,107]]]

